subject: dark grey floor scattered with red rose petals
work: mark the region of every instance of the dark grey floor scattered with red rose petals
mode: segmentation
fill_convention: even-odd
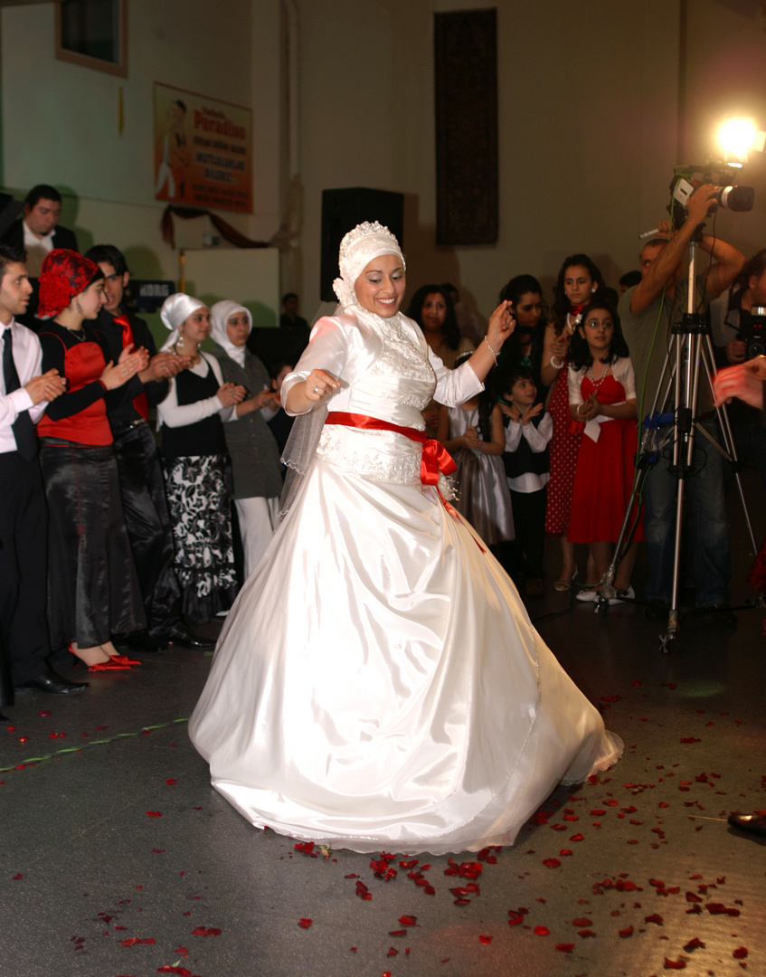
[[[750,499],[760,513],[760,489]],[[735,629],[687,618],[662,655],[665,621],[641,608],[568,606],[548,582],[532,616],[625,755],[455,872],[394,859],[384,881],[369,856],[299,852],[245,823],[186,735],[209,657],[147,656],[71,701],[20,696],[0,729],[0,974],[766,974],[766,842],[726,824],[766,809],[766,612]]]

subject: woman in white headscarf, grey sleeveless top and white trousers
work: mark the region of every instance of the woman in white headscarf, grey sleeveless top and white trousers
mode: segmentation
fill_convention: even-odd
[[[247,349],[253,327],[249,311],[228,299],[216,302],[210,309],[210,323],[213,356],[224,379],[247,391],[224,425],[246,579],[272,541],[278,522],[282,475],[277,441],[267,420],[277,412],[279,400],[269,371]]]

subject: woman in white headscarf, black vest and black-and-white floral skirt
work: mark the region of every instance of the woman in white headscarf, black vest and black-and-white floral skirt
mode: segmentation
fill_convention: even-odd
[[[157,417],[182,611],[203,624],[227,611],[236,594],[222,422],[245,391],[225,383],[215,357],[199,349],[210,333],[203,302],[176,292],[165,299],[160,319],[170,330],[162,351],[191,357],[190,366],[171,379]]]

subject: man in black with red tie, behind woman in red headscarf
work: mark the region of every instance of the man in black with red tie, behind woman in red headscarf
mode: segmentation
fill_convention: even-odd
[[[119,360],[129,344],[149,352],[149,365],[118,390],[106,394],[106,416],[114,437],[125,528],[136,564],[149,632],[112,635],[124,652],[155,652],[169,642],[211,650],[215,644],[191,634],[181,620],[181,590],[173,568],[173,531],[149,407],[165,399],[168,381],[189,365],[189,357],[157,353],[144,319],[129,312],[125,288],[130,278],[125,257],[112,244],[96,244],[86,254],[104,272],[104,308],[93,326],[106,342],[109,359]]]

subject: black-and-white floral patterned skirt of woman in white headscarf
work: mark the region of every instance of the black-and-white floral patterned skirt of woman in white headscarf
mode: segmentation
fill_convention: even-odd
[[[163,458],[183,613],[204,624],[236,596],[226,455]]]

